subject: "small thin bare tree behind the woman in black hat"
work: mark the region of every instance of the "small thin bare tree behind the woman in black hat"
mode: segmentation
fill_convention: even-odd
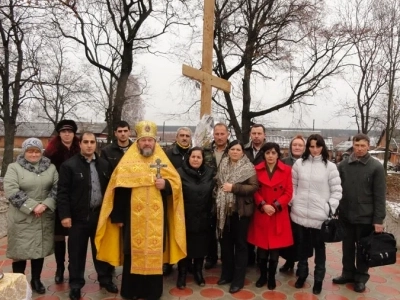
[[[46,37],[38,53],[40,68],[33,81],[29,110],[54,127],[65,118],[79,120],[94,100],[86,71],[68,58],[73,55],[71,50],[62,39]]]

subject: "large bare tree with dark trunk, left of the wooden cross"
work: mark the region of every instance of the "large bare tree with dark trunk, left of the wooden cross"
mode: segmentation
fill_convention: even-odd
[[[185,6],[177,0],[59,0],[58,4],[53,7],[53,24],[64,37],[83,46],[87,60],[99,72],[108,74],[109,87],[116,82],[106,113],[112,136],[112,128],[121,120],[134,54],[151,51],[155,38],[180,24],[180,8]]]

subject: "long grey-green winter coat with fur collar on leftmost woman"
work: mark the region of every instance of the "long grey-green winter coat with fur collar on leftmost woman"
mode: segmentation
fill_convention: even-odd
[[[4,177],[5,196],[11,203],[6,254],[11,259],[38,259],[53,253],[58,173],[46,157],[38,166],[35,170],[19,156]],[[40,217],[33,213],[38,204],[47,206]]]

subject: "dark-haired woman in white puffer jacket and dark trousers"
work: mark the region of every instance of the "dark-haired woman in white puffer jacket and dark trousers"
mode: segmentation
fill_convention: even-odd
[[[296,243],[299,244],[298,279],[300,289],[308,276],[308,247],[315,251],[313,293],[321,293],[325,277],[325,243],[321,237],[321,225],[328,218],[329,206],[335,213],[342,198],[342,186],[337,167],[328,161],[325,141],[319,134],[307,139],[306,150],[293,165],[293,199],[291,219]]]

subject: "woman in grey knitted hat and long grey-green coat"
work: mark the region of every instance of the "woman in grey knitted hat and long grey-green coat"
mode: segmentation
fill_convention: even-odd
[[[11,205],[8,210],[7,257],[13,259],[14,273],[24,273],[31,260],[32,289],[45,293],[40,281],[44,257],[53,253],[54,211],[58,173],[42,156],[42,143],[29,138],[23,152],[8,166],[4,192]]]

